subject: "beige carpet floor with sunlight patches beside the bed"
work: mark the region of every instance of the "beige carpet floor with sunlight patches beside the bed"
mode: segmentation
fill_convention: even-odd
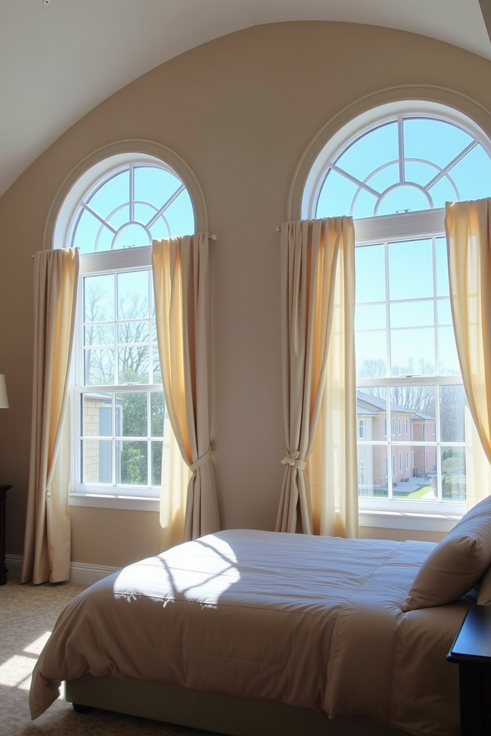
[[[71,584],[21,585],[10,575],[0,587],[0,736],[213,736],[105,710],[82,715],[62,697],[31,721],[32,668],[58,615],[82,590]]]

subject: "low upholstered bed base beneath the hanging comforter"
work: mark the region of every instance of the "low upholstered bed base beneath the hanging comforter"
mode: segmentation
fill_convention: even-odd
[[[323,711],[111,675],[68,680],[65,699],[77,712],[101,708],[230,736],[408,736],[365,718],[331,720]]]

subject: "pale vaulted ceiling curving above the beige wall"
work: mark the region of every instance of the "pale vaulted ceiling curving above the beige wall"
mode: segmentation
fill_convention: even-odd
[[[141,74],[213,38],[283,21],[386,26],[491,60],[491,0],[0,0],[0,196]]]

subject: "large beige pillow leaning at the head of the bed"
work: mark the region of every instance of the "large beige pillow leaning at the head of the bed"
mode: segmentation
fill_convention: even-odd
[[[490,565],[491,496],[488,496],[464,514],[425,559],[403,611],[457,601],[478,583]]]

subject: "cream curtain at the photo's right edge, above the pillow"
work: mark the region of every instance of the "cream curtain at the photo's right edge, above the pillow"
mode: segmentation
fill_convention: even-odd
[[[470,508],[491,493],[491,199],[447,203],[445,230],[453,326],[468,407]]]

